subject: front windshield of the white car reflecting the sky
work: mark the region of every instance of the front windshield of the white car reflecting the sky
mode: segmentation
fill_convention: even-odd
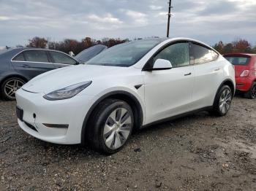
[[[132,66],[140,61],[149,50],[160,42],[162,42],[162,39],[145,39],[118,44],[101,52],[94,58],[91,58],[87,64],[124,67]]]

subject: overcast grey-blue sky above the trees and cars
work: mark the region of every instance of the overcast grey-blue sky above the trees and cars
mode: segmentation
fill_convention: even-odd
[[[256,43],[255,0],[173,0],[170,36]],[[0,47],[51,40],[166,36],[167,0],[0,0]]]

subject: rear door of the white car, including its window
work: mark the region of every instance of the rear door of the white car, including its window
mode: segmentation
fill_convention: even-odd
[[[192,95],[192,108],[211,106],[223,79],[223,63],[217,61],[219,55],[211,48],[191,42],[192,62],[195,69],[195,86]]]

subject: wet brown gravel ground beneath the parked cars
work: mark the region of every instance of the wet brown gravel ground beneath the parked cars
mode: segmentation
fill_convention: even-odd
[[[105,156],[34,139],[1,101],[0,176],[0,190],[256,190],[256,102],[140,130]]]

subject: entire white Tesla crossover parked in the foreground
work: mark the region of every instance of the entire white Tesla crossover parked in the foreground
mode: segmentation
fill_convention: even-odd
[[[235,92],[231,63],[194,39],[111,47],[85,65],[49,71],[16,93],[20,128],[57,144],[117,152],[132,130],[210,109],[224,116]]]

